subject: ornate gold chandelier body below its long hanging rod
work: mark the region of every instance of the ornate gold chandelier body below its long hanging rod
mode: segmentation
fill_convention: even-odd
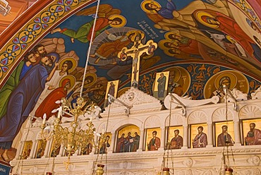
[[[54,109],[53,112],[58,111],[57,118],[54,120],[54,128],[49,133],[49,135],[44,135],[44,128],[46,128],[45,119],[43,120],[42,126],[42,138],[53,138],[54,147],[58,149],[59,146],[63,145],[64,150],[68,155],[68,161],[66,164],[70,164],[70,156],[73,155],[76,150],[79,150],[80,147],[85,147],[86,145],[92,144],[92,147],[99,149],[106,139],[104,139],[105,134],[104,131],[102,135],[96,132],[96,128],[92,123],[92,112],[97,106],[95,103],[91,103],[89,105],[85,105],[86,101],[83,97],[78,97],[77,102],[73,107],[71,106],[71,102],[68,102],[67,99],[62,98],[61,100],[56,102],[57,104],[61,104],[58,109]],[[61,123],[61,117],[63,114],[67,114],[73,116],[74,119],[71,121],[71,125],[69,127],[63,127]],[[90,115],[90,121],[86,124],[87,129],[83,130],[81,128],[81,123],[78,120],[78,116],[80,115]],[[95,138],[98,138],[95,141]],[[101,139],[99,139],[101,138]],[[68,169],[68,166],[66,166]]]

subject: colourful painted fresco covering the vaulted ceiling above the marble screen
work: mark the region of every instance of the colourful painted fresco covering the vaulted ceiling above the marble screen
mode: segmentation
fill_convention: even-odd
[[[97,1],[37,3],[1,35],[0,147],[29,114],[48,119],[56,100],[74,103],[81,90],[104,108],[130,86],[161,101],[222,97],[222,85],[250,98],[260,87],[260,1],[102,0],[96,21]]]

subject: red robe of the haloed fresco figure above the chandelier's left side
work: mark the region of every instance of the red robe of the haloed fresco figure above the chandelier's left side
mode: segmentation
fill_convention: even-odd
[[[66,97],[67,90],[65,90],[65,85],[68,83],[69,79],[64,79],[61,83],[61,87],[56,88],[53,90],[47,97],[44,99],[44,101],[40,104],[40,106],[35,111],[35,116],[41,117],[45,114],[47,114],[47,120],[51,117],[51,115],[55,115],[56,113],[51,113],[52,110],[59,108],[59,104],[56,104],[55,102],[57,100],[60,100],[62,97]]]

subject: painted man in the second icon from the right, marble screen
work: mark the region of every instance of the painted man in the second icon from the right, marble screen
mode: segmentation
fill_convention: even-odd
[[[231,138],[231,135],[227,133],[227,126],[222,126],[222,133],[217,136],[217,146],[218,147],[224,147],[224,146],[233,146],[233,139]]]

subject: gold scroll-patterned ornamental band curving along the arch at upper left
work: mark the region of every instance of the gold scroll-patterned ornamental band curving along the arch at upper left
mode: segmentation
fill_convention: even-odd
[[[44,1],[40,2],[44,3]],[[47,1],[45,2],[46,8],[37,8],[39,11],[33,11],[35,16],[32,17],[29,15],[31,18],[28,18],[28,20],[25,20],[25,16],[25,18],[22,19],[23,27],[16,28],[16,30],[18,30],[16,34],[11,38],[6,38],[6,41],[3,41],[5,44],[0,50],[0,68],[3,70],[0,72],[0,88],[4,85],[3,79],[11,73],[11,68],[14,68],[16,62],[23,59],[23,54],[25,54],[35,42],[47,34],[52,25],[59,23],[63,18],[77,11],[78,8],[87,6],[87,4],[91,2],[92,1],[86,0]],[[35,4],[35,6],[37,5]],[[18,25],[20,24],[18,23]]]

